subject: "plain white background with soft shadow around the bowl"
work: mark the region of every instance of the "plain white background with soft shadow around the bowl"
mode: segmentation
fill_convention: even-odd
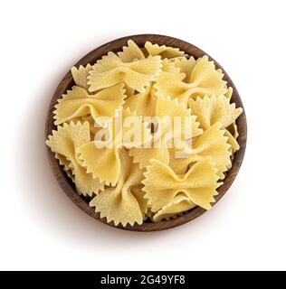
[[[0,269],[286,269],[285,1],[3,1]],[[44,147],[52,93],[76,61],[136,33],[194,43],[243,98],[248,144],[214,210],[171,230],[110,228],[61,191]]]

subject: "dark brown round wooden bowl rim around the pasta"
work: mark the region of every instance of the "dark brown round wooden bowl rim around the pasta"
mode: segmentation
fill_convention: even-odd
[[[84,56],[81,61],[78,61],[75,66],[79,67],[80,65],[87,65],[88,63],[95,63],[98,61],[103,55],[107,54],[109,51],[118,52],[121,51],[122,46],[127,45],[129,39],[132,39],[134,42],[138,44],[139,47],[143,47],[144,43],[149,41],[153,43],[157,43],[159,45],[167,45],[178,47],[181,51],[186,51],[187,54],[193,55],[195,59],[207,55],[205,51],[200,50],[199,48],[195,47],[193,44],[188,42],[184,42],[182,40],[176,39],[174,37],[157,35],[157,34],[139,34],[139,35],[132,35],[127,37],[122,37],[112,42],[108,42],[104,45],[101,45],[99,48],[88,53]],[[210,60],[215,61],[212,57],[208,55]],[[235,102],[236,107],[243,107],[243,103],[237,90],[234,87],[234,83],[232,79],[227,75],[225,70],[215,61],[216,68],[220,68],[224,71],[224,80],[227,81],[228,86],[233,87],[234,93],[232,97],[232,102]],[[71,89],[71,86],[74,85],[73,79],[71,77],[71,71],[69,71],[65,77],[60,82],[59,86],[55,90],[51,104],[48,110],[47,118],[46,118],[46,125],[45,125],[45,137],[48,138],[48,135],[52,134],[52,129],[55,129],[53,125],[53,114],[52,111],[54,110],[54,105],[57,103],[59,98],[62,98],[62,94],[66,92],[67,89]],[[240,144],[240,150],[236,152],[234,155],[234,163],[233,167],[227,173],[227,176],[224,179],[224,184],[218,189],[218,195],[215,196],[216,202],[220,200],[224,193],[228,190],[231,184],[234,182],[234,179],[240,169],[241,164],[243,163],[243,155],[245,152],[246,146],[246,117],[245,112],[243,109],[243,114],[237,118],[236,121],[238,127],[238,143]],[[67,196],[79,207],[81,210],[84,210],[87,214],[89,214],[92,218],[100,220],[105,224],[108,224],[112,227],[116,228],[124,228],[123,226],[115,226],[113,222],[108,223],[107,220],[100,219],[100,214],[94,212],[94,208],[89,206],[90,199],[86,199],[85,197],[79,196],[75,190],[74,184],[71,182],[71,179],[66,175],[66,173],[62,170],[62,166],[60,166],[58,160],[55,159],[54,154],[47,147],[47,154],[48,158],[52,167],[52,172],[55,175],[58,183],[60,184],[62,191],[64,191]],[[216,203],[215,202],[215,203]],[[214,203],[214,205],[215,205]],[[177,217],[176,219],[170,220],[163,220],[158,223],[151,223],[151,222],[144,222],[142,225],[135,224],[133,227],[126,226],[124,229],[133,230],[133,231],[157,231],[166,228],[174,228],[176,226],[182,225],[192,219],[195,219],[202,214],[205,213],[205,210],[199,207],[194,208],[193,210],[189,210],[181,217]]]

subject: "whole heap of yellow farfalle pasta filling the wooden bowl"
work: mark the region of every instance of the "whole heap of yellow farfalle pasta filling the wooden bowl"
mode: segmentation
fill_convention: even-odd
[[[100,218],[125,227],[212,208],[243,112],[214,61],[129,40],[71,76],[46,144]]]

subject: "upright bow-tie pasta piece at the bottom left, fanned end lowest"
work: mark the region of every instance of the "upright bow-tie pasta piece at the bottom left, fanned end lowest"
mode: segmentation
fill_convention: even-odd
[[[123,227],[127,224],[142,224],[143,215],[147,212],[147,200],[144,199],[144,191],[140,190],[143,173],[138,169],[138,164],[132,163],[125,150],[121,150],[120,162],[117,185],[101,191],[91,200],[90,206],[100,212],[100,218],[113,221],[116,226],[119,223]]]

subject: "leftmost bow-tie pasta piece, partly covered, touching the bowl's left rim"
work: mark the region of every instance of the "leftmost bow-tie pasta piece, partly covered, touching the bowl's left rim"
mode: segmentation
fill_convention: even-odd
[[[84,196],[92,196],[93,193],[98,193],[104,188],[99,179],[93,179],[92,174],[87,173],[81,166],[81,161],[75,153],[77,147],[90,142],[90,137],[88,122],[83,124],[71,122],[70,125],[58,126],[58,130],[53,130],[52,135],[49,135],[49,139],[46,141],[53,153],[61,154],[71,162],[77,191]]]

